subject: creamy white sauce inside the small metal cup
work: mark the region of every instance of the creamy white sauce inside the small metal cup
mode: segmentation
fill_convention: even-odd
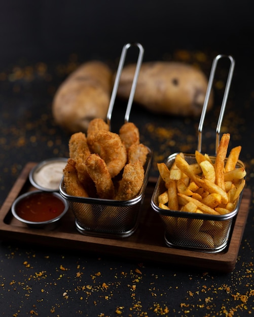
[[[38,171],[35,171],[33,178],[38,185],[49,188],[58,189],[63,176],[63,169],[66,162],[52,162],[42,166]]]

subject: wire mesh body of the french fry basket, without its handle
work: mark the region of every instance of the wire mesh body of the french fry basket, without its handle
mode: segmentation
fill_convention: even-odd
[[[168,168],[175,161],[177,153],[168,157]],[[209,156],[215,161],[215,156]],[[194,154],[185,154],[185,160],[189,164],[196,163]],[[238,161],[237,167],[244,167]],[[235,209],[226,215],[197,214],[159,208],[158,196],[165,191],[165,183],[159,177],[156,184],[151,206],[160,215],[165,225],[165,243],[169,247],[193,249],[203,252],[220,252],[227,246],[230,236],[230,228],[235,220],[241,203],[241,195],[238,197]]]

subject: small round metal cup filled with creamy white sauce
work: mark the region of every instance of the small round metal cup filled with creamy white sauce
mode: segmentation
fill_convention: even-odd
[[[58,191],[66,163],[67,159],[64,157],[56,157],[39,163],[29,173],[30,183],[40,190]]]

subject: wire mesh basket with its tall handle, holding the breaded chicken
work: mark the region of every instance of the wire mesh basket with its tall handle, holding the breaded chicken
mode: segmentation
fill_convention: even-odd
[[[138,47],[139,55],[125,113],[125,122],[129,121],[130,109],[143,57],[143,47],[139,43],[126,44],[123,47],[111,101],[107,112],[108,125],[111,124],[111,114],[114,107],[126,52],[131,46]],[[70,196],[65,191],[64,180],[62,179],[59,191],[61,195],[69,202],[69,207],[75,215],[75,223],[79,232],[94,236],[127,237],[135,231],[138,225],[139,210],[144,199],[144,191],[146,190],[149,172],[151,169],[152,152],[149,148],[148,150],[149,153],[147,155],[147,162],[144,165],[144,181],[138,195],[134,197],[134,199],[128,201],[117,201]]]

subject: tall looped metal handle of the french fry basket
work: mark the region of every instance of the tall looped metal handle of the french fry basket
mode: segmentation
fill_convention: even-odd
[[[219,120],[217,122],[217,127],[216,127],[215,154],[217,153],[217,147],[219,146],[219,142],[220,142],[220,132],[221,132],[222,120],[223,120],[223,115],[224,115],[224,111],[225,111],[225,107],[226,107],[226,103],[227,103],[227,99],[228,99],[228,94],[229,94],[229,89],[230,89],[230,85],[231,85],[231,81],[232,81],[232,76],[233,76],[233,72],[234,72],[234,67],[235,67],[235,60],[230,55],[217,55],[213,59],[211,73],[210,73],[207,91],[206,91],[205,100],[204,100],[204,105],[203,105],[203,109],[202,109],[202,113],[201,113],[201,117],[200,117],[200,122],[199,122],[199,127],[198,127],[198,151],[201,151],[202,129],[203,129],[203,124],[204,124],[204,118],[205,118],[206,109],[207,109],[208,101],[209,101],[210,94],[211,94],[215,70],[217,67],[217,63],[221,58],[228,58],[230,60],[230,68],[229,68],[227,83],[226,83],[226,87],[225,87],[225,91],[224,91],[223,101],[222,101],[222,105],[221,105]]]

